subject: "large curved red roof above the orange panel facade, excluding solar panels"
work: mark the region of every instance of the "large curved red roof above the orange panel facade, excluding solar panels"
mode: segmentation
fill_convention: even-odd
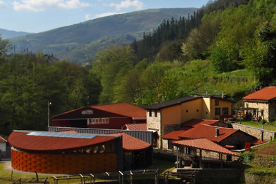
[[[31,136],[30,132],[14,131],[10,134],[8,141],[16,148],[24,150],[65,150],[77,149],[117,139],[116,136],[95,136],[92,139],[84,138],[66,138],[66,137],[47,137],[47,136]],[[62,133],[60,133],[62,134]],[[66,134],[66,133],[64,133]]]

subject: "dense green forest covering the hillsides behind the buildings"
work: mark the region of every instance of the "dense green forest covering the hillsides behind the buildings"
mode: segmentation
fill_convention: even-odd
[[[112,45],[90,65],[36,54],[6,54],[0,38],[0,134],[45,130],[50,114],[97,104],[139,107],[185,95],[246,93],[276,85],[276,2],[209,1],[164,20],[131,45]]]

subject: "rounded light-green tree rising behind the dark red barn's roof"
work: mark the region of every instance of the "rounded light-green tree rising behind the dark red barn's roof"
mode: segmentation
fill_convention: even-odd
[[[127,45],[112,45],[97,53],[97,58],[92,71],[100,78],[103,86],[100,103],[117,102],[114,98],[114,88],[119,86],[125,74],[133,69],[136,62],[134,51]]]

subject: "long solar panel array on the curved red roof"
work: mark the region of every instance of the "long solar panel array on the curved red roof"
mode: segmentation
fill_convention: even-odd
[[[72,134],[72,133],[61,133],[61,132],[31,132],[28,136],[45,136],[45,137],[66,137],[66,138],[82,138],[92,139],[97,135],[94,134]]]

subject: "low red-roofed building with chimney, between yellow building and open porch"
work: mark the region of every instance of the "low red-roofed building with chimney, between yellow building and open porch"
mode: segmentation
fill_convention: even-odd
[[[215,122],[215,123],[212,123]],[[243,149],[245,143],[250,143],[252,146],[260,145],[266,141],[260,141],[256,137],[251,136],[239,129],[216,126],[216,120],[190,120],[183,123],[180,130],[170,132],[164,136],[163,148],[173,149],[172,141],[183,139],[199,139],[206,138],[222,147]]]

